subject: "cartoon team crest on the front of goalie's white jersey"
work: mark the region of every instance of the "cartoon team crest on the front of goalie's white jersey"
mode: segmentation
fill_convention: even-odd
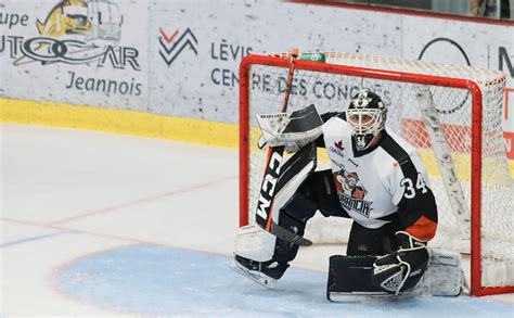
[[[368,191],[359,180],[359,175],[357,173],[348,173],[343,165],[338,166],[340,170],[334,173],[334,179],[340,204],[348,211],[370,217],[370,212],[373,209],[371,204],[373,202],[364,200]]]

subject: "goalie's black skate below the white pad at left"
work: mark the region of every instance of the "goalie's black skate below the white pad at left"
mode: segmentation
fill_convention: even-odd
[[[256,262],[239,255],[235,255],[232,263],[232,269],[244,277],[252,279],[265,288],[277,289],[277,280],[284,275],[290,265],[279,263],[273,259],[268,262]]]

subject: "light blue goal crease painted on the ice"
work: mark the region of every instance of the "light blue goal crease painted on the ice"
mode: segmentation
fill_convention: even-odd
[[[63,267],[56,279],[63,291],[82,302],[145,316],[505,317],[514,313],[514,304],[467,296],[331,303],[325,297],[325,274],[290,268],[279,289],[271,291],[232,271],[231,262],[229,256],[132,245],[81,258]]]

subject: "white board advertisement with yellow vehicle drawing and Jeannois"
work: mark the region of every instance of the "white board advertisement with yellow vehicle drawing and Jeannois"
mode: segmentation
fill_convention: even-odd
[[[1,5],[0,97],[146,111],[147,1]]]

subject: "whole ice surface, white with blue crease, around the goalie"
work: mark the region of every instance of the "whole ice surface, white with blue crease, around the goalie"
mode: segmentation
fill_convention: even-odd
[[[7,124],[0,143],[2,317],[514,316],[512,294],[330,303],[342,246],[300,249],[277,292],[239,276],[236,150]]]

